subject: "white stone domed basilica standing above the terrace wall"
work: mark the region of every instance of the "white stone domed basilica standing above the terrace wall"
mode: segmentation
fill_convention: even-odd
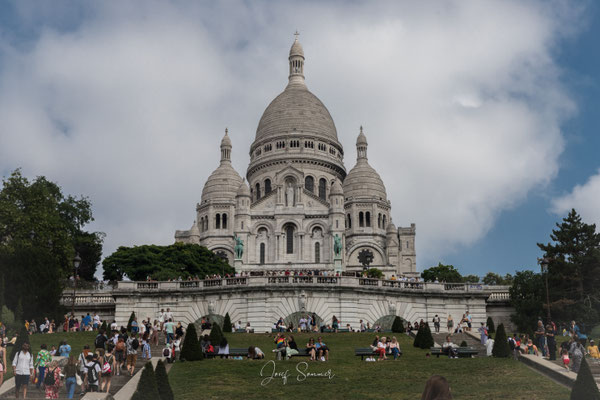
[[[265,110],[250,147],[246,181],[231,165],[228,132],[221,163],[208,178],[191,229],[175,240],[227,257],[238,271],[359,271],[358,255],[386,276],[416,274],[415,225],[396,228],[379,174],[369,165],[362,127],[357,163],[346,173],[344,149],[323,103],[304,82],[304,52],[290,50],[289,83]],[[334,263],[334,237],[345,251]],[[235,237],[243,255],[236,260]]]

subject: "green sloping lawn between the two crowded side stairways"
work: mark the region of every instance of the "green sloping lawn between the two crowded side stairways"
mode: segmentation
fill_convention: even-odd
[[[287,384],[281,378],[261,386],[261,368],[274,360],[272,335],[228,334],[230,347],[255,345],[266,354],[264,361],[203,360],[177,362],[169,373],[176,399],[417,399],[433,374],[445,376],[457,399],[567,399],[569,390],[512,359],[448,359],[426,357],[412,339],[397,335],[404,355],[399,361],[366,362],[354,356],[354,348],[366,347],[374,335],[367,333],[324,334],[332,349],[330,361],[308,362],[309,372],[331,369],[333,379],[297,380],[298,363],[306,358],[276,361],[277,372],[289,371]],[[309,336],[295,335],[299,346]],[[300,364],[302,367],[302,364]],[[267,368],[270,368],[267,372]],[[265,367],[265,376],[272,366]]]

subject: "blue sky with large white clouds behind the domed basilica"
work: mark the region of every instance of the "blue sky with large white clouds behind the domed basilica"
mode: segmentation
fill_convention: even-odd
[[[426,3],[426,4],[424,4]],[[535,268],[571,207],[600,224],[600,8],[578,1],[15,1],[0,5],[0,173],[89,196],[120,245],[195,218],[225,127],[234,167],[287,83],[355,163],[360,125],[418,268]]]

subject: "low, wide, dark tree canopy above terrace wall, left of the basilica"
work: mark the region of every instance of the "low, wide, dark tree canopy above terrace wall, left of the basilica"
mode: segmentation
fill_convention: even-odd
[[[119,247],[102,263],[104,279],[121,280],[123,276],[140,281],[203,279],[211,274],[233,274],[235,270],[221,257],[197,244],[175,243],[170,246],[144,245]]]

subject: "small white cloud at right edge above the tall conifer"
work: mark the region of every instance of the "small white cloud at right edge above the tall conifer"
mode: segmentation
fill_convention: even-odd
[[[574,208],[584,222],[596,224],[600,230],[600,170],[583,185],[576,185],[571,193],[552,201],[552,211],[565,216]]]

